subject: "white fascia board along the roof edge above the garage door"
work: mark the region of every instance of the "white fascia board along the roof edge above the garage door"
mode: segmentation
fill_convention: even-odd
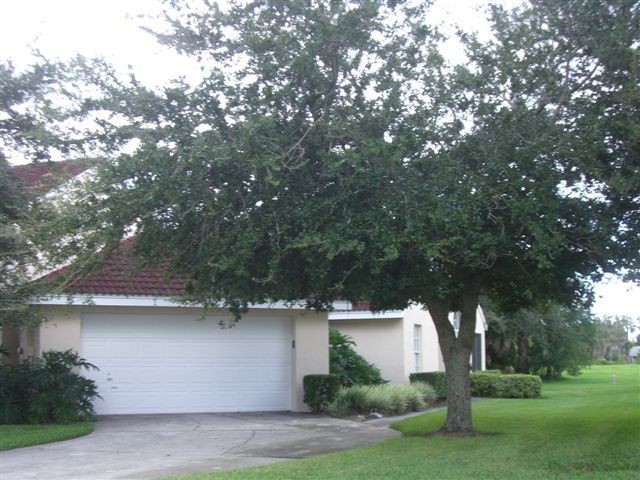
[[[34,305],[91,305],[97,307],[201,307],[199,304],[185,304],[172,297],[121,296],[121,295],[57,295],[35,300]],[[250,309],[304,310],[305,302],[271,302],[250,304]],[[337,301],[334,308],[346,308],[349,302]],[[224,308],[224,307],[221,307]]]

